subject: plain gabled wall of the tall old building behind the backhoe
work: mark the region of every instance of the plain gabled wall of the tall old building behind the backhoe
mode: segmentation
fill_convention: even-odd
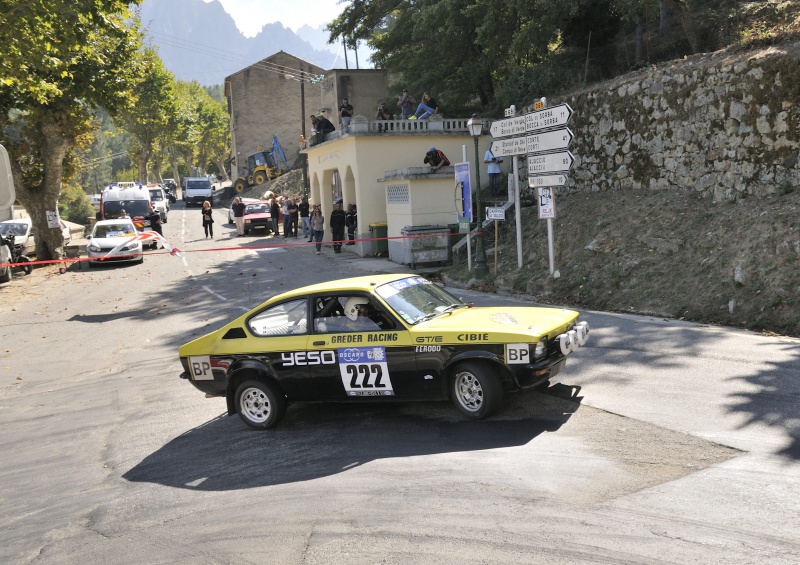
[[[277,135],[289,166],[300,154],[298,138],[305,123],[311,131],[308,115],[319,107],[319,84],[303,85],[305,114],[301,110],[300,73],[321,75],[325,69],[280,51],[225,79],[225,95],[231,120],[231,166],[233,176],[246,168],[247,156],[272,146]]]

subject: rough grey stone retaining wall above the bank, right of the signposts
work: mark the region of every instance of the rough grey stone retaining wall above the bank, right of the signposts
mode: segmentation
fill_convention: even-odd
[[[800,185],[800,45],[698,55],[567,102],[570,192],[683,189],[722,201]]]

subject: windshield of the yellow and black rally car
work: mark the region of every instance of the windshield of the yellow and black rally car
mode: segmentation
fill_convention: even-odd
[[[375,292],[409,324],[466,306],[443,288],[422,277],[408,277],[379,286]]]

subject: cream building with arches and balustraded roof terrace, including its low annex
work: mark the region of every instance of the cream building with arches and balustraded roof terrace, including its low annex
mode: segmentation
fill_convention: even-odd
[[[357,115],[349,134],[336,131],[323,143],[304,150],[308,157],[309,198],[322,205],[326,223],[334,200],[342,198],[345,210],[348,204],[357,206],[356,239],[367,239],[351,248],[359,255],[375,252],[370,225],[386,224],[390,258],[410,264],[413,261],[395,259],[407,255],[404,228],[446,227],[458,221],[460,196],[456,193],[453,167],[431,173],[423,163],[428,149],[443,151],[452,165],[469,162],[470,184],[475,186],[475,145],[467,129],[468,119],[378,121]],[[484,132],[488,133],[488,128]],[[491,136],[479,138],[478,165],[482,173],[483,154],[490,145]],[[481,180],[487,182],[488,176],[483,174]]]

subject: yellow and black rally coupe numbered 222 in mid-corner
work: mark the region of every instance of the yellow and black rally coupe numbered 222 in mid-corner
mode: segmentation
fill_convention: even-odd
[[[575,311],[477,308],[417,275],[374,275],[275,296],[183,345],[180,376],[257,429],[306,401],[449,399],[477,420],[558,374],[588,334]]]

